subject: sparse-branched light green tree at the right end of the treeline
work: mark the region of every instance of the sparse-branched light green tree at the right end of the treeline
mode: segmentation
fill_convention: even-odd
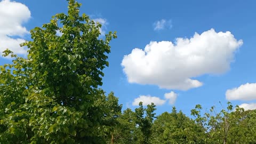
[[[210,112],[201,115],[202,107],[197,105],[191,110],[191,115],[195,116],[195,121],[204,126],[207,143],[255,143],[255,111],[244,111],[243,108],[227,103],[227,109],[222,109],[219,113],[215,107],[211,107]]]

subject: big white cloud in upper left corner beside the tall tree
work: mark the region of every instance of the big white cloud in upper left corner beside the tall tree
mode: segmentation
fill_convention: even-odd
[[[22,37],[29,34],[22,26],[29,18],[30,11],[26,5],[9,0],[0,2],[0,54],[7,48],[16,54],[27,53],[25,47],[20,47],[20,43],[25,42]]]

